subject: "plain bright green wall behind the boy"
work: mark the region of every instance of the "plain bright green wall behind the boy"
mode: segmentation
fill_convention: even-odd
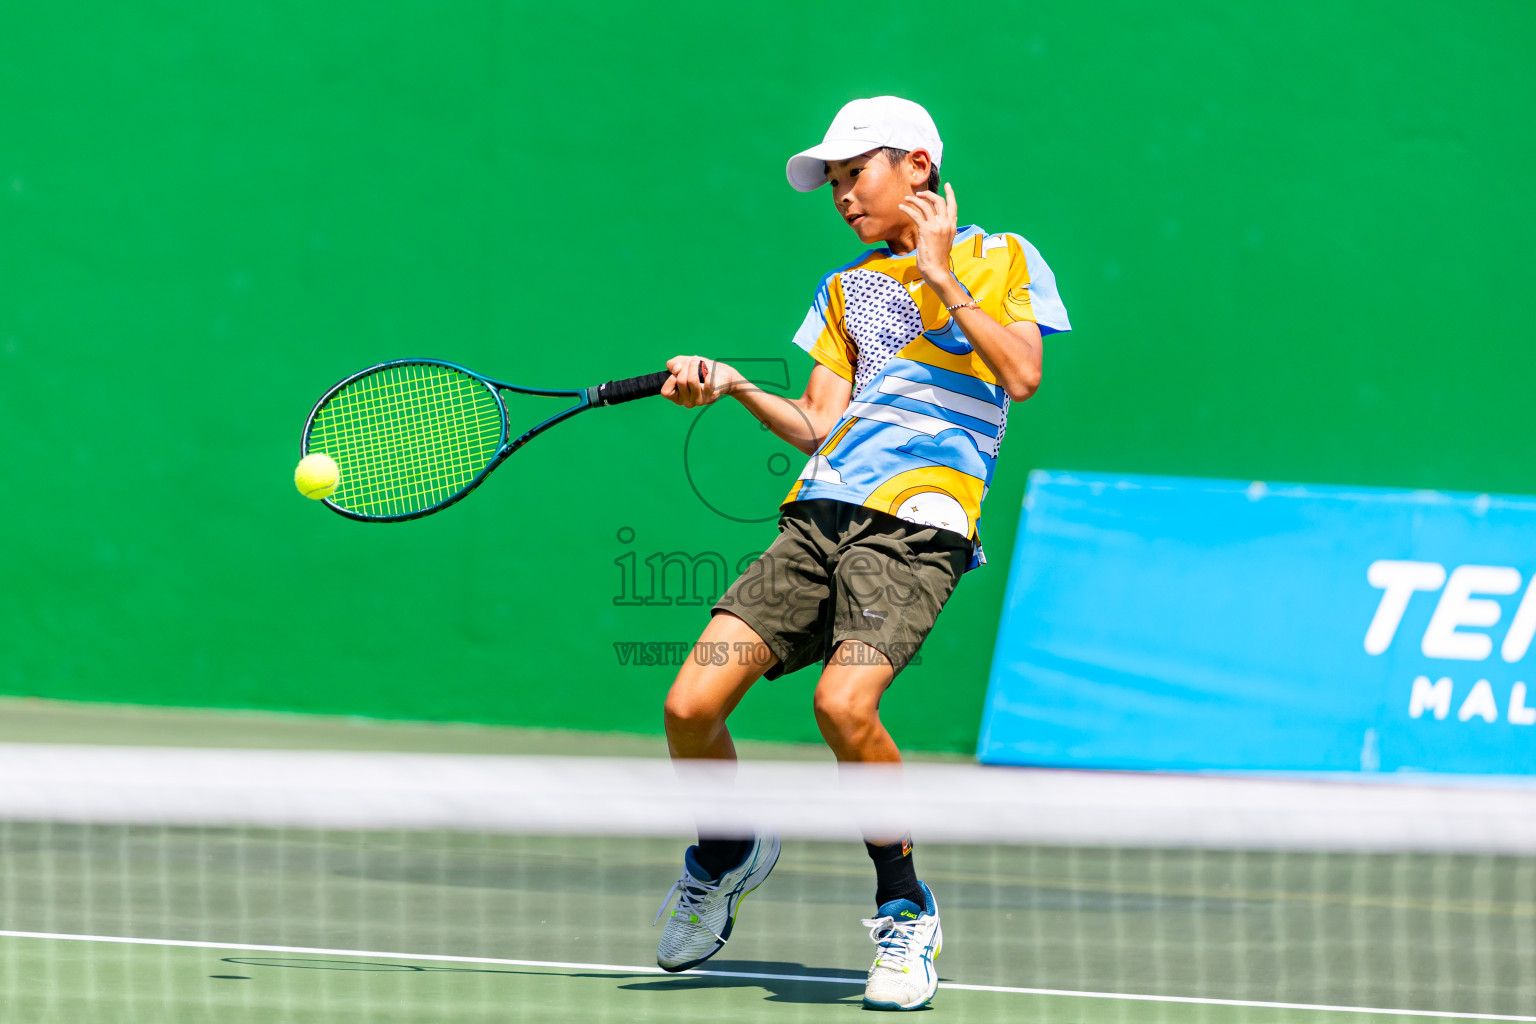
[[[782,167],[857,95],[928,104],[1077,325],[905,745],[972,743],[1031,467],[1536,491],[1530,5],[561,6],[0,9],[5,692],[659,731],[673,669],[614,645],[703,623],[656,556],[771,539],[742,410],[593,413],[402,527],[298,497],[298,431],[399,355],[802,385],[859,246]],[[814,738],[813,676],[739,732]]]

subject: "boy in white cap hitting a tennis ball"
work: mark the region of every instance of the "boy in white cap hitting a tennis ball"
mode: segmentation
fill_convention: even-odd
[[[854,100],[820,146],[790,158],[794,189],[831,184],[859,239],[883,243],[822,278],[794,338],[816,361],[799,399],[723,362],[667,364],[671,401],[693,408],[730,395],[811,456],[779,537],[720,597],[699,640],[766,645],[771,657],[684,665],[665,705],[673,758],[734,760],[725,718],[746,689],[822,662],[816,723],[837,760],[902,760],[880,697],[960,574],[983,560],[977,519],[1008,404],[1040,385],[1041,335],[1071,329],[1034,246],[957,227],[954,189],[938,195],[942,158],[932,118],[897,97]],[[914,1010],[938,986],[938,906],[917,880],[909,838],[869,838],[877,910],[865,926],[877,950],[863,1001]],[[713,956],[777,857],[774,835],[700,835],[684,854],[657,963],[687,970]]]

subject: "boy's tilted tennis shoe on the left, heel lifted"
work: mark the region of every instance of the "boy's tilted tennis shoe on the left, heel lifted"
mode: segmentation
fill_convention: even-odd
[[[748,892],[763,884],[779,861],[779,837],[756,835],[742,863],[710,881],[708,872],[694,860],[697,849],[690,846],[682,855],[682,878],[667,890],[656,912],[660,921],[673,894],[677,894],[677,904],[656,946],[656,964],[662,970],[688,970],[720,952],[736,926],[736,909]]]

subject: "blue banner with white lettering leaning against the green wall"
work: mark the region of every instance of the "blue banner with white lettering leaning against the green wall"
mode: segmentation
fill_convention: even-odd
[[[977,755],[1536,774],[1536,497],[1037,471]]]

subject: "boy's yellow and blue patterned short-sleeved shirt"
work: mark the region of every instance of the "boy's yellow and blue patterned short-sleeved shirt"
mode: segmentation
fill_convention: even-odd
[[[1055,275],[1018,235],[955,233],[949,263],[1001,324],[1071,330]],[[923,287],[917,253],[871,249],[833,270],[794,342],[852,384],[848,411],[811,456],[785,504],[829,497],[975,540],[1008,428],[1008,393]]]

